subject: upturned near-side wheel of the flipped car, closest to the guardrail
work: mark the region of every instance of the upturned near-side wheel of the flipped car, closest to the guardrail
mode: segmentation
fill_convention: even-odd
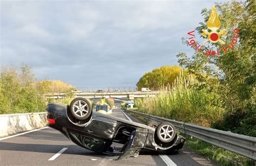
[[[157,135],[157,139],[160,142],[169,143],[176,136],[176,130],[175,130],[174,126],[172,125],[172,123],[163,122],[157,126],[156,135]]]

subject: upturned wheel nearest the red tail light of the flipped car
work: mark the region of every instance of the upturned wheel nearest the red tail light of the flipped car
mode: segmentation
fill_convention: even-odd
[[[91,103],[85,98],[73,99],[70,103],[70,112],[76,119],[85,120],[91,115]]]

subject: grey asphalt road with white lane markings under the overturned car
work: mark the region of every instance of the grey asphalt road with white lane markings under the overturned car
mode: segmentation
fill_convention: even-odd
[[[121,109],[114,109],[112,116],[137,121]],[[176,155],[115,159],[81,148],[52,128],[0,139],[0,165],[214,165],[186,147]]]

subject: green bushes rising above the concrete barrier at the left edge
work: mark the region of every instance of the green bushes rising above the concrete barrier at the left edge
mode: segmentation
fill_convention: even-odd
[[[36,80],[27,65],[3,67],[0,76],[0,114],[42,112],[46,100],[36,89]]]

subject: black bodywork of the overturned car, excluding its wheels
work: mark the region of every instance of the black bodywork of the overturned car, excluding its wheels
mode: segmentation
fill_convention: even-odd
[[[131,122],[129,120],[120,119],[115,116],[105,115],[98,112],[92,112],[89,120],[76,121],[72,119],[69,113],[69,106],[59,103],[51,103],[47,107],[48,119],[55,119],[55,124],[50,127],[59,130],[62,134],[68,137],[71,141],[78,144],[83,148],[85,146],[79,138],[86,140],[87,137],[102,140],[102,148],[90,149],[99,153],[106,153],[111,155],[120,155],[118,159],[126,157],[136,157],[139,151],[159,151],[168,152],[181,149],[184,145],[185,138],[177,135],[176,139],[167,146],[159,146],[154,141],[155,129],[141,123]],[[129,140],[124,143],[125,149],[120,153],[112,153],[107,151],[111,146],[114,138],[120,133],[119,130],[128,129],[131,130]],[[85,139],[84,139],[85,138]],[[98,141],[99,142],[99,141]],[[96,142],[96,144],[99,144]]]

